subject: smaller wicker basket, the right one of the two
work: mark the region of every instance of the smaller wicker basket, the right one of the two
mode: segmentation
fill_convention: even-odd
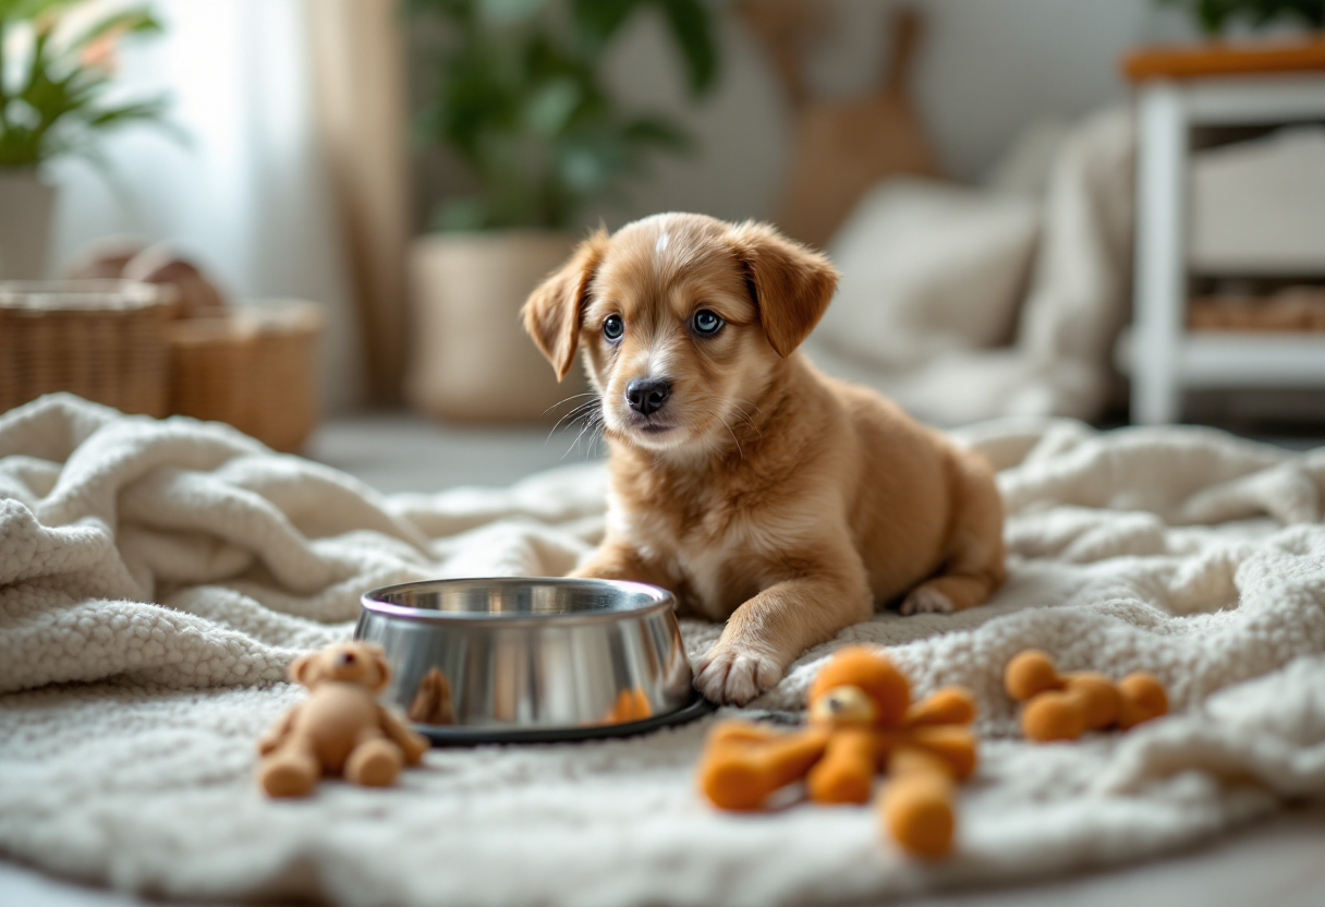
[[[171,412],[297,451],[318,422],[321,334],[321,306],[301,301],[236,305],[225,318],[171,325]]]

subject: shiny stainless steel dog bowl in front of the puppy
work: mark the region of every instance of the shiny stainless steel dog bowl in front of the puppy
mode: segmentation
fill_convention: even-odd
[[[440,579],[364,593],[387,699],[433,743],[620,736],[712,708],[672,593],[607,579]]]

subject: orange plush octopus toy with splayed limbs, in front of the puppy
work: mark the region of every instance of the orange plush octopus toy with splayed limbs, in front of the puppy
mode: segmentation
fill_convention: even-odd
[[[958,781],[975,770],[971,695],[939,690],[912,703],[910,684],[886,656],[840,650],[810,688],[810,723],[778,731],[749,721],[714,728],[700,762],[700,786],[714,806],[762,809],[804,778],[816,804],[867,804],[874,774],[889,782],[880,816],[892,837],[921,857],[953,845]]]

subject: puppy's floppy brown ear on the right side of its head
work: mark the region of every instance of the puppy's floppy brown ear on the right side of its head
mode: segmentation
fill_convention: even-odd
[[[753,220],[733,229],[737,257],[778,355],[810,335],[837,289],[837,269],[823,255]]]

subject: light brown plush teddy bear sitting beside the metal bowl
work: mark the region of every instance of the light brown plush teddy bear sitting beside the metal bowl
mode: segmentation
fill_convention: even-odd
[[[323,774],[370,788],[395,784],[417,765],[428,740],[378,703],[391,679],[382,647],[341,643],[301,655],[290,680],[311,692],[258,743],[258,784],[269,797],[303,797]]]

